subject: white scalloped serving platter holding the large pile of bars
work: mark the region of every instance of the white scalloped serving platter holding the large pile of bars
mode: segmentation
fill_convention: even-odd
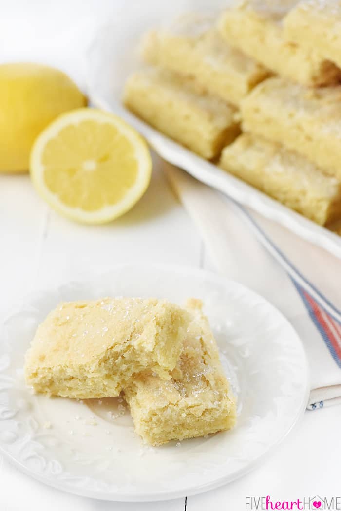
[[[221,5],[226,7],[226,1],[228,0],[224,2],[214,0],[210,6],[212,9]],[[184,0],[180,5],[182,10],[194,9],[191,0]],[[199,2],[199,5],[195,6],[196,10],[202,5],[204,2]],[[137,48],[142,33],[150,27],[160,26],[170,18],[173,19],[178,10],[179,2],[175,2],[173,8],[172,3],[165,6],[164,2],[152,2],[152,8],[144,7],[143,11],[139,10],[138,13],[135,9],[131,9],[130,12],[127,9],[124,15],[118,15],[110,24],[101,28],[89,49],[86,61],[88,95],[93,105],[120,115],[171,164],[186,170],[203,183],[341,258],[341,236],[295,213],[280,202],[181,147],[135,117],[122,105],[121,97],[126,78],[141,65]]]

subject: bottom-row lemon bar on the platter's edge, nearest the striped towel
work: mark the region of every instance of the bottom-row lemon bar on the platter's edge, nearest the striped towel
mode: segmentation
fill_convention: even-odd
[[[220,167],[321,225],[341,218],[341,182],[279,144],[244,133]]]

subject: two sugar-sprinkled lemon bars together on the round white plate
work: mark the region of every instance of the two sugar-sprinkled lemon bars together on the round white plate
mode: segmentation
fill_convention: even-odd
[[[60,304],[26,354],[27,384],[49,396],[123,392],[145,442],[232,428],[236,403],[200,300],[103,298]]]

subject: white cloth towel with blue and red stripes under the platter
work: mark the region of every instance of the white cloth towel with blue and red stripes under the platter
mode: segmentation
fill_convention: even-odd
[[[217,269],[267,298],[300,335],[310,366],[308,408],[341,404],[341,260],[164,165]]]

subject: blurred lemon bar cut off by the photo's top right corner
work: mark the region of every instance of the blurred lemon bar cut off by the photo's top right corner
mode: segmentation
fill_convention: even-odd
[[[335,0],[300,2],[284,18],[287,38],[308,51],[317,50],[341,67],[341,3]]]

